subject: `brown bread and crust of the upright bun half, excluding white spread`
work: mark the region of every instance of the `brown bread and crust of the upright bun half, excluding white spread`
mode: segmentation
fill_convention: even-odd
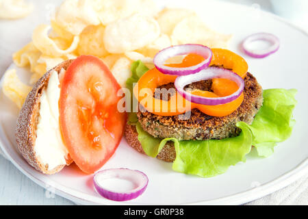
[[[17,118],[15,135],[18,150],[21,151],[23,157],[25,157],[31,166],[48,175],[59,172],[65,165],[60,165],[52,170],[48,170],[48,165],[44,166],[42,162],[40,162],[40,157],[36,156],[34,151],[34,146],[36,143],[36,126],[38,125],[40,112],[40,97],[42,90],[48,85],[51,72],[55,70],[59,74],[61,68],[66,70],[68,66],[70,66],[71,62],[73,62],[73,60],[62,62],[45,73],[36,82],[31,92],[29,92],[25,103],[23,103],[23,107],[21,108],[21,112],[19,112],[19,116]],[[73,160],[68,155],[68,157],[66,157],[66,165],[69,165],[72,162]]]

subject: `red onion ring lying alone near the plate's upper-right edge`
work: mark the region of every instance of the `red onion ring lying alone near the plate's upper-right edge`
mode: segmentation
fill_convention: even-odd
[[[266,49],[251,49],[249,47],[249,44],[257,40],[268,41],[272,45]],[[244,41],[242,42],[242,48],[247,55],[250,55],[251,57],[261,58],[261,57],[266,57],[276,52],[279,49],[279,44],[280,42],[277,36],[274,36],[273,34],[268,34],[268,33],[257,33],[257,34],[252,34],[251,36],[246,37]]]

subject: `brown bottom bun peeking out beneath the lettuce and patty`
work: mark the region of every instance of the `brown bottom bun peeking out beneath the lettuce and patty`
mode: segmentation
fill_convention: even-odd
[[[133,149],[145,154],[138,140],[138,132],[135,125],[126,125],[125,138]],[[175,160],[175,146],[173,142],[167,142],[156,158],[162,159],[164,162],[173,162]]]

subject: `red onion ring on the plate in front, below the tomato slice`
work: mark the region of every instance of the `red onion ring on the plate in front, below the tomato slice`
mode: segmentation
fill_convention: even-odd
[[[113,201],[128,201],[144,192],[149,179],[139,170],[114,168],[97,172],[93,182],[101,196]]]

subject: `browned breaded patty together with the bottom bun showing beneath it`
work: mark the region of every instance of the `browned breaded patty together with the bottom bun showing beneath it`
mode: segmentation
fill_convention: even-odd
[[[222,139],[238,136],[240,129],[236,123],[244,121],[253,123],[253,119],[262,105],[262,88],[257,83],[257,79],[247,73],[244,78],[244,101],[232,114],[228,116],[216,117],[209,116],[193,109],[190,118],[183,120],[179,116],[158,116],[150,112],[137,113],[138,121],[144,131],[155,138],[177,138],[178,140],[209,140]],[[188,88],[197,88],[201,90],[210,90],[209,81],[200,81],[190,84]],[[167,87],[170,88],[170,85]],[[144,153],[136,127],[127,125],[125,130],[127,142],[140,153]],[[175,149],[173,142],[167,142],[166,146],[157,155],[157,158],[166,162],[172,162],[175,159]]]

